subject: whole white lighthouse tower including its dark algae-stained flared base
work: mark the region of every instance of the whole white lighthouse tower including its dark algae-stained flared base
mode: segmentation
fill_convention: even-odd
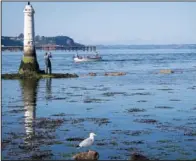
[[[35,11],[28,2],[24,10],[24,54],[20,64],[19,73],[23,74],[26,72],[39,73],[39,64],[36,58],[35,50],[35,26],[34,26],[34,14]]]

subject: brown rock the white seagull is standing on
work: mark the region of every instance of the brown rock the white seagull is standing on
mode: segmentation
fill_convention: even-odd
[[[89,150],[88,152],[81,152],[73,156],[74,160],[98,160],[99,153]]]

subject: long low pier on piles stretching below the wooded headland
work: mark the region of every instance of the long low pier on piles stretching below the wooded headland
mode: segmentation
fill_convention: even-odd
[[[64,50],[64,51],[96,51],[96,46],[58,46],[58,45],[43,45],[35,46],[36,50]],[[23,46],[2,46],[2,51],[23,51]]]

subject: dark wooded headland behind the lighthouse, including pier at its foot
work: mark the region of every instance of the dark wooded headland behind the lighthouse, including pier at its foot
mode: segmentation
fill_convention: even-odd
[[[37,50],[87,50],[95,51],[95,46],[87,46],[75,42],[68,36],[35,36],[35,48]],[[24,35],[21,33],[18,36],[2,36],[1,37],[1,49],[17,51],[23,50]]]

